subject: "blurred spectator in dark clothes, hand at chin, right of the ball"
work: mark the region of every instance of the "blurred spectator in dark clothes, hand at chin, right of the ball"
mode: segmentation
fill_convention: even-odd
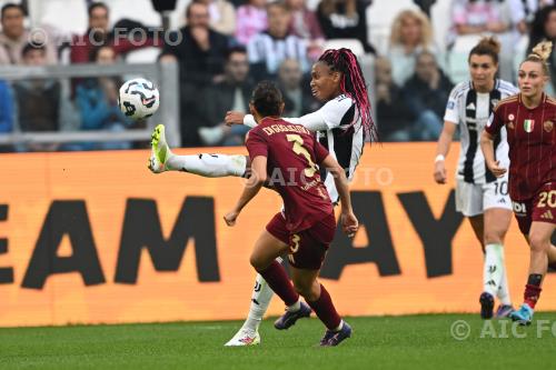
[[[198,128],[202,124],[198,94],[210,83],[222,81],[229,39],[209,28],[209,11],[203,3],[189,3],[186,18],[187,26],[171,39],[181,42],[166,44],[161,61],[177,59],[179,62],[181,144],[197,147],[201,144]]]

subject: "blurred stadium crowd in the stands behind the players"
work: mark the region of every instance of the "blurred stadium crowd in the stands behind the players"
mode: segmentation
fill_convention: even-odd
[[[85,1],[85,0],[82,0]],[[0,69],[3,66],[126,62],[129,52],[158,47],[152,62],[179,66],[180,130],[183,147],[235,146],[247,129],[224,124],[226,111],[247,111],[251,89],[261,79],[278,81],[285,117],[315,111],[309,88],[314,61],[330,40],[349,39],[360,54],[375,57],[370,94],[381,141],[434,141],[440,134],[446,102],[463,79],[469,43],[495,34],[503,44],[500,76],[515,81],[515,61],[539,40],[556,39],[552,0],[451,0],[449,28],[441,44],[434,38],[431,8],[441,0],[415,0],[393,18],[385,46],[374,44],[369,17],[379,0],[192,0],[177,9],[185,24],[169,38],[141,20],[111,19],[109,2],[86,1],[82,34],[52,29],[40,42],[24,27],[22,3],[3,2],[0,16]],[[373,19],[375,19],[373,17]],[[143,42],[131,30],[142,29]],[[550,68],[556,68],[550,56]],[[553,94],[556,73],[547,92]],[[120,78],[0,80],[0,134],[10,132],[113,130],[145,127],[117,107]],[[3,144],[0,151],[129,149],[140,143]]]

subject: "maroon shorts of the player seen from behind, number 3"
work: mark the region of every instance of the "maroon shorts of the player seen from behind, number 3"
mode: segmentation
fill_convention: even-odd
[[[278,212],[268,222],[267,231],[289,246],[289,263],[298,269],[318,270],[322,266],[328,246],[336,232],[334,213],[316,222],[309,229],[291,232],[286,229],[286,219]]]

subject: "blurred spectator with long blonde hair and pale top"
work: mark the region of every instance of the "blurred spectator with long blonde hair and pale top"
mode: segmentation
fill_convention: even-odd
[[[424,50],[437,52],[428,18],[420,11],[401,11],[391,24],[388,50],[393,79],[398,87],[403,87],[414,74],[417,54]]]

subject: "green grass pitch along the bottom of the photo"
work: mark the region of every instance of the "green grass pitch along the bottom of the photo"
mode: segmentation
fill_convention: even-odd
[[[535,319],[515,328],[471,314],[348,318],[354,336],[337,348],[315,347],[324,330],[314,318],[287,331],[266,320],[262,343],[249,348],[222,347],[239,321],[0,329],[0,369],[550,369],[556,313]],[[457,320],[470,328],[465,340],[450,333]]]

